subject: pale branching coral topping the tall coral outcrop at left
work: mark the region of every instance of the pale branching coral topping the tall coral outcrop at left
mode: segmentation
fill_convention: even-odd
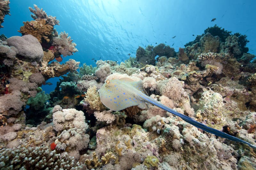
[[[34,8],[28,7],[29,11],[34,13],[31,14],[31,17],[35,20],[44,19],[47,21],[47,24],[49,25],[60,25],[60,21],[56,19],[56,17],[52,17],[51,15],[47,15],[45,11],[43,11],[43,8],[38,8],[37,5],[34,4]]]

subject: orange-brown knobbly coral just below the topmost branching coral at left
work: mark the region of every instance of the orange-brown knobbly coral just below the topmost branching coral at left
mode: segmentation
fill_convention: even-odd
[[[23,26],[20,27],[22,35],[33,35],[36,39],[42,43],[42,38],[48,43],[50,42],[50,36],[53,32],[53,26],[46,23],[46,20],[39,19],[35,21],[23,22]]]

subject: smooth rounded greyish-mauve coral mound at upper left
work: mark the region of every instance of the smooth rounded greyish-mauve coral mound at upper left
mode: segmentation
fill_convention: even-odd
[[[41,44],[33,35],[12,36],[6,41],[8,46],[14,46],[18,50],[18,54],[26,58],[41,61],[44,56]]]

